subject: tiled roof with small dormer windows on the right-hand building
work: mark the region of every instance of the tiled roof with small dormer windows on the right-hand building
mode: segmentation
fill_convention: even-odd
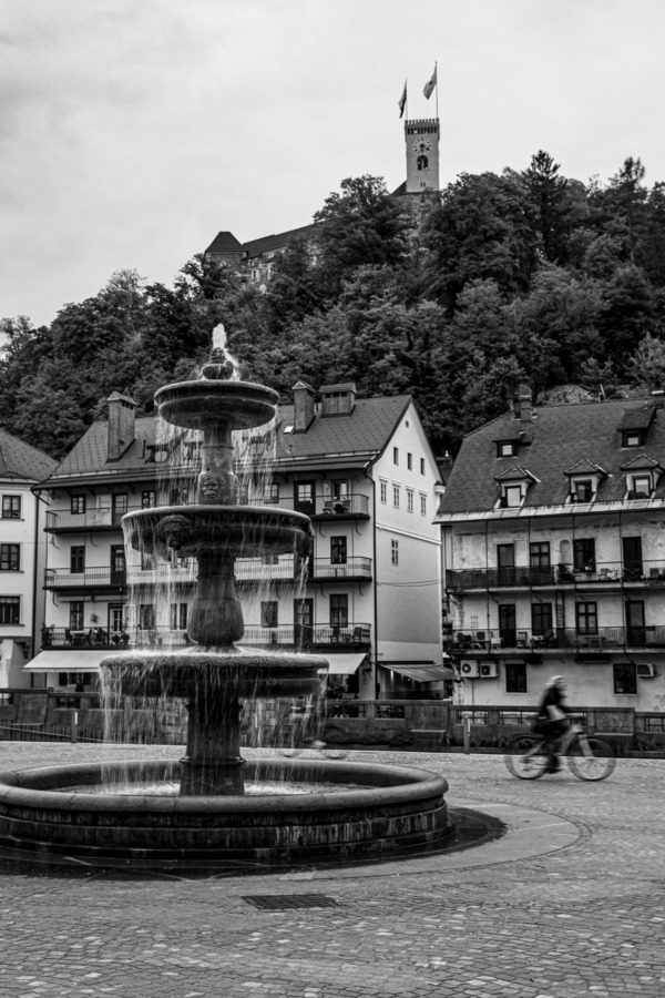
[[[598,486],[598,502],[621,501],[626,493],[622,469],[627,464],[648,467],[649,460],[665,465],[665,409],[656,408],[644,445],[622,447],[618,428],[626,413],[643,413],[653,399],[618,399],[615,401],[544,406],[536,409],[532,442],[521,441],[518,451],[520,466],[536,479],[530,485],[523,508],[564,503],[570,489],[566,471],[580,461],[600,465],[607,472]],[[497,440],[511,439],[515,429],[524,426],[512,411],[469,434],[454,462],[439,513],[484,512],[495,507],[499,498],[497,477],[514,467],[515,458],[497,457]],[[646,461],[644,458],[649,459]],[[657,498],[665,497],[665,475],[656,489]]]

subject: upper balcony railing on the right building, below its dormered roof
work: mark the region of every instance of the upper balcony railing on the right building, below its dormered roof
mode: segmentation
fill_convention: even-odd
[[[593,583],[648,582],[665,584],[665,561],[602,561],[583,567],[567,564],[534,568],[449,569],[446,585],[450,590],[494,589],[501,587],[587,585]]]

